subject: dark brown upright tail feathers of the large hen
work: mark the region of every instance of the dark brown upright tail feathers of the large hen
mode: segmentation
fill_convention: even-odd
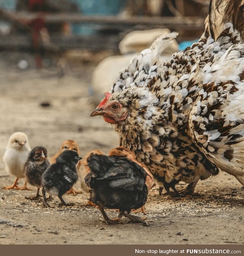
[[[226,23],[231,23],[233,29],[239,31],[243,41],[244,0],[210,0],[204,36],[212,36],[216,40],[226,28]]]

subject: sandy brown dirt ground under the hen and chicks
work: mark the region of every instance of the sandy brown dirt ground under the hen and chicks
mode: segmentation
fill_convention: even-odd
[[[93,65],[58,78],[56,70],[20,71],[0,61],[0,159],[8,137],[23,131],[30,146],[47,147],[49,157],[65,139],[79,143],[81,156],[118,145],[117,134],[100,117],[90,118],[94,106],[89,96]],[[43,108],[42,102],[51,106]],[[150,227],[128,223],[107,226],[98,209],[85,207],[88,194],[64,195],[72,207],[43,208],[28,201],[33,191],[4,190],[14,178],[6,175],[0,160],[0,244],[243,244],[244,188],[226,173],[200,181],[201,197],[173,202],[150,191],[146,217]],[[20,184],[24,181],[20,180]],[[185,185],[180,184],[178,188]],[[80,189],[79,182],[75,185]],[[117,212],[106,210],[116,217]],[[138,214],[143,216],[142,214]]]

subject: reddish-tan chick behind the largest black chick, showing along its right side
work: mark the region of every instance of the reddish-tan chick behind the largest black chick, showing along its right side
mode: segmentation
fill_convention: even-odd
[[[128,150],[127,148],[125,147],[116,147],[115,149],[112,149],[109,154],[109,156],[120,156],[120,157],[126,157],[127,159],[135,162],[136,164],[140,165],[141,167],[143,167],[143,169],[145,170],[147,176],[146,176],[146,185],[148,187],[148,191],[151,190],[151,188],[153,186],[155,186],[155,183],[154,183],[154,179],[153,179],[153,176],[152,176],[152,173],[149,172],[149,170],[143,165],[141,164],[140,162],[138,162],[136,160],[136,155],[134,152]],[[138,210],[134,210],[133,211],[134,213],[136,212],[143,212],[144,214],[146,214],[146,211],[145,211],[145,206],[141,207],[141,209],[138,209]]]

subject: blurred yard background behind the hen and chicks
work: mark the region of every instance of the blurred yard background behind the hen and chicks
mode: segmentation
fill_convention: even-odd
[[[118,145],[90,112],[119,71],[159,36],[169,58],[197,41],[209,0],[0,0],[0,157],[11,133],[53,156],[66,139],[82,156]],[[0,170],[4,172],[3,163]]]

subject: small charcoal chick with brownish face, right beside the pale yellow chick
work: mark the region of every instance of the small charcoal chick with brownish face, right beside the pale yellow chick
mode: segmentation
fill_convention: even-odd
[[[29,198],[34,200],[40,197],[39,190],[42,187],[42,174],[49,167],[50,163],[47,159],[47,149],[45,147],[34,147],[30,151],[26,163],[24,164],[24,175],[27,182],[37,187],[37,194]]]

